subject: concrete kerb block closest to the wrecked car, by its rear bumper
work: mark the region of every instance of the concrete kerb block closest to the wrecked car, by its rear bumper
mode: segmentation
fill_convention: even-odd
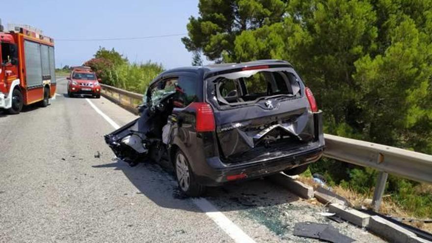
[[[311,186],[296,181],[285,174],[278,173],[275,175],[271,175],[268,178],[273,183],[276,183],[286,189],[289,189],[290,191],[294,192],[301,198],[309,199],[314,197],[314,189]]]

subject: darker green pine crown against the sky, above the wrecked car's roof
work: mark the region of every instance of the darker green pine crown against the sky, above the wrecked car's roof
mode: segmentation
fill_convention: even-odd
[[[189,18],[188,51],[202,51],[210,60],[222,52],[234,54],[234,40],[243,30],[280,22],[286,3],[281,0],[200,0],[200,16]]]

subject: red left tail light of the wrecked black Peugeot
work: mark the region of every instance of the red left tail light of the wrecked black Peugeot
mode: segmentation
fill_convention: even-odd
[[[196,132],[215,131],[215,115],[213,108],[205,102],[194,102],[190,104],[196,110]]]

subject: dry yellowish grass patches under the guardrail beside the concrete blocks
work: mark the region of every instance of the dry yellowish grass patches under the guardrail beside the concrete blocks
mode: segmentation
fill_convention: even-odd
[[[320,186],[311,177],[299,176],[297,180],[304,184],[312,186],[314,189]],[[342,188],[340,186],[333,187],[332,189],[333,192],[347,199],[351,203],[353,208],[356,209],[371,208],[372,199],[367,195],[363,195],[351,189]],[[432,193],[432,185],[424,185],[423,187],[419,188],[419,190],[421,190],[421,192],[428,191]],[[413,216],[412,213],[404,210],[398,204],[392,201],[389,195],[384,195],[381,203],[381,207],[379,209],[379,213],[384,215],[390,215],[393,217],[416,218],[415,216]],[[419,221],[419,220],[417,221],[405,220],[404,222],[411,226],[432,233],[432,223],[424,223],[423,221]]]

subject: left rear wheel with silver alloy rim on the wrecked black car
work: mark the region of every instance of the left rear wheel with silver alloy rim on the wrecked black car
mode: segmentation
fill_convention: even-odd
[[[179,188],[186,195],[197,197],[204,193],[205,187],[196,182],[189,161],[181,150],[175,156],[175,168]]]

